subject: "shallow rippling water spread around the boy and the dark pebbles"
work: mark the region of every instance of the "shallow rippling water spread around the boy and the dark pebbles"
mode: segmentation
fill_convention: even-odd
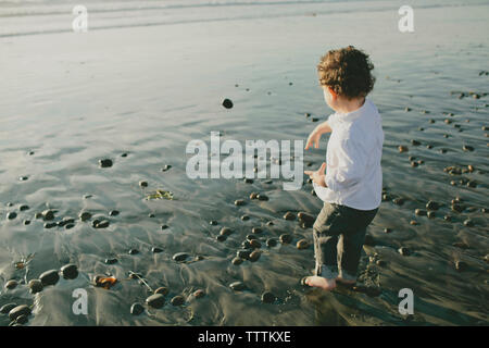
[[[26,27],[12,24],[21,23],[20,17],[0,18],[2,24],[12,21],[2,26],[0,39],[0,66],[5,67],[0,87],[0,306],[34,304],[29,325],[487,325],[488,224],[481,208],[488,208],[488,132],[482,126],[488,122],[489,77],[479,75],[488,71],[487,4],[424,2],[415,9],[413,34],[397,30],[397,8],[383,1],[372,7],[362,1],[269,3],[266,11],[258,4],[217,8],[204,7],[209,13],[201,8],[196,13],[192,7],[166,9],[171,23],[180,23],[172,25],[149,25],[147,17],[134,15],[134,25],[111,22],[111,29],[102,29],[96,13],[93,29],[82,35],[62,29],[63,20],[52,13],[52,21],[46,24],[45,18],[36,30],[29,21],[40,21],[39,15],[24,16]],[[209,144],[212,130],[241,144],[305,139],[315,124],[304,113],[325,120],[330,112],[317,87],[315,64],[328,49],[349,44],[371,53],[376,65],[372,99],[386,135],[384,186],[405,199],[401,207],[383,202],[369,227],[375,247],[365,247],[359,272],[363,284],[381,289],[378,297],[348,289],[306,291],[299,285],[314,259],[312,247],[298,250],[294,244],[312,241],[312,229],[283,215],[318,212],[322,203],[311,195],[310,184],[284,191],[277,179],[192,181],[185,172],[187,142]],[[451,91],[475,91],[480,98],[459,99]],[[223,98],[235,107],[222,108]],[[406,107],[412,110],[406,112]],[[412,139],[422,145],[412,146]],[[319,166],[326,144],[327,138],[319,150],[304,152],[304,163]],[[399,145],[410,151],[399,153]],[[464,151],[464,145],[474,151]],[[412,167],[410,156],[424,163]],[[100,169],[98,161],[104,158],[114,165]],[[172,167],[162,172],[165,164]],[[468,164],[475,166],[473,173],[443,172]],[[477,187],[450,184],[462,177]],[[140,181],[149,187],[140,188]],[[145,199],[159,188],[174,192],[175,200]],[[253,191],[265,192],[269,200],[250,200]],[[474,210],[451,212],[456,196]],[[246,204],[236,207],[236,199]],[[442,203],[436,217],[415,216],[414,210],[424,209],[428,200]],[[30,209],[21,212],[21,204]],[[57,210],[57,219],[88,210],[111,225],[96,229],[77,221],[71,229],[43,228],[34,215],[47,208]],[[109,216],[113,209],[121,214]],[[17,216],[10,221],[5,216],[12,211]],[[443,220],[447,213],[452,222]],[[251,219],[241,221],[243,214]],[[32,224],[25,226],[25,219]],[[466,219],[473,227],[464,226]],[[210,225],[211,220],[218,224]],[[418,225],[410,225],[411,220]],[[274,225],[267,226],[268,221]],[[162,231],[162,224],[168,228]],[[217,241],[223,226],[234,233]],[[264,229],[263,240],[289,233],[293,243],[262,247],[259,261],[233,265],[255,226]],[[392,232],[384,233],[386,227]],[[468,248],[453,246],[460,241]],[[401,256],[401,246],[413,253]],[[152,247],[164,251],[153,253]],[[140,252],[130,256],[131,248]],[[172,256],[180,251],[203,259],[176,263]],[[13,262],[29,253],[35,257],[27,268],[16,270]],[[386,266],[369,262],[374,253]],[[112,257],[118,262],[105,264]],[[468,268],[456,271],[456,260]],[[9,279],[29,281],[68,262],[78,265],[78,277],[60,279],[35,296],[25,284],[13,290],[3,287]],[[152,289],[168,287],[163,309],[129,314],[130,304],[143,303],[149,293],[127,279],[128,271],[140,273]],[[89,284],[104,273],[121,282],[110,290]],[[229,289],[235,281],[247,289]],[[398,312],[398,291],[405,287],[415,297],[411,320]],[[88,291],[88,315],[71,310],[75,288]],[[190,296],[198,288],[206,296]],[[264,290],[278,297],[274,304],[261,303]],[[178,294],[187,302],[173,307],[170,298]],[[8,325],[8,318],[2,314],[0,323]]]

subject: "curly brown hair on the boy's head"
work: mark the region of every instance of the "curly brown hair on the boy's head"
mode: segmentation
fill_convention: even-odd
[[[317,65],[319,84],[348,99],[365,97],[374,89],[373,69],[368,54],[353,46],[330,50]]]

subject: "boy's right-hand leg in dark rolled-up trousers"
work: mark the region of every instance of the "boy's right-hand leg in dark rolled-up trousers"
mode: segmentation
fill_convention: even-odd
[[[341,234],[338,243],[339,279],[344,281],[344,283],[356,281],[366,227],[374,220],[377,211],[378,209],[363,211],[344,207],[344,214],[350,215],[349,221],[351,222]]]

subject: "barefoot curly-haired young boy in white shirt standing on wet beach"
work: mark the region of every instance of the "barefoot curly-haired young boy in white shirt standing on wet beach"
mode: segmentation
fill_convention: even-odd
[[[377,108],[366,98],[375,83],[373,69],[368,55],[352,46],[329,51],[317,65],[324,98],[336,112],[305,146],[318,148],[321,136],[331,132],[326,163],[304,172],[324,201],[313,227],[316,268],[304,281],[309,286],[330,290],[336,282],[355,283],[366,227],[380,206],[384,132]]]

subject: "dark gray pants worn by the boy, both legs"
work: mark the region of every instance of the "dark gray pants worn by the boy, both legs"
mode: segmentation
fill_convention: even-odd
[[[324,203],[313,226],[316,275],[356,279],[366,227],[377,211]]]

